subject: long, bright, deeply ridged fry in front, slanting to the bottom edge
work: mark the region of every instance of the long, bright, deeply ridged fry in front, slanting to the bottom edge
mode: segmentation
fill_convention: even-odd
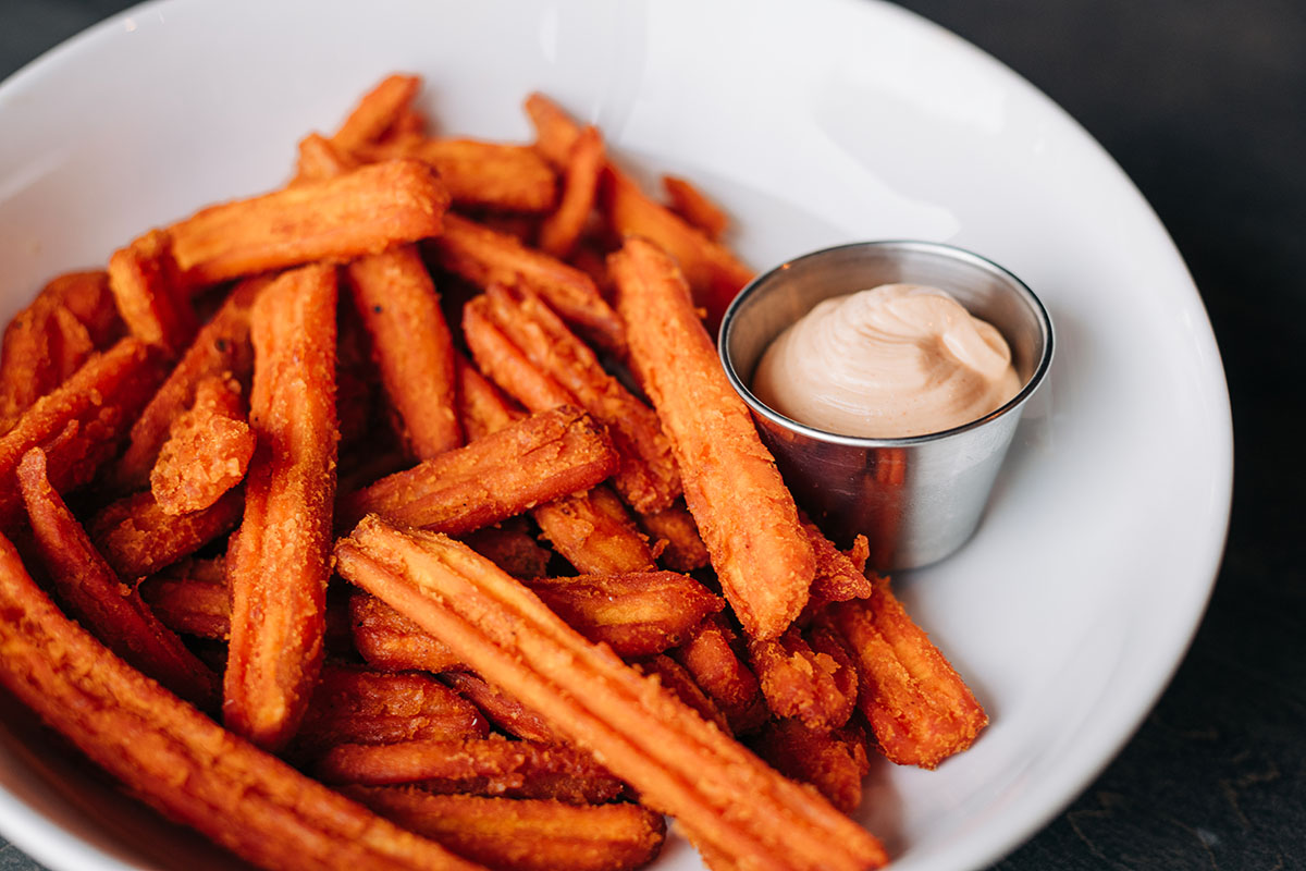
[[[440,637],[486,680],[542,714],[674,815],[699,842],[756,871],[865,871],[880,844],[568,628],[533,593],[444,535],[377,518],[336,547],[341,575]]]

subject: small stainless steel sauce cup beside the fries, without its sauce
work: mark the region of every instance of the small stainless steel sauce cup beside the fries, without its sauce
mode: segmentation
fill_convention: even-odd
[[[752,394],[763,351],[829,296],[887,283],[932,285],[1002,333],[1020,392],[978,420],[902,439],[824,432]],[[1019,278],[978,255],[930,242],[862,242],[781,264],[726,309],[718,342],[730,384],[752,410],[798,504],[840,545],[863,533],[878,571],[927,565],[970,538],[1025,401],[1053,359],[1053,324]]]

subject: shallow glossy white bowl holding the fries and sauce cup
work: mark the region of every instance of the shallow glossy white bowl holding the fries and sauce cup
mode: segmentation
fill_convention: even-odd
[[[1087,786],[1155,703],[1228,525],[1229,402],[1165,230],[1047,98],[879,3],[172,0],[106,21],[0,87],[0,315],[146,227],[279,185],[390,71],[440,129],[526,140],[543,90],[637,170],[686,175],[764,269],[876,238],[1020,276],[1058,358],[985,521],[899,590],[993,725],[936,772],[879,765],[865,821],[902,871],[976,868]],[[0,833],[56,868],[240,867],[120,800],[8,697]],[[673,840],[660,871],[701,867]]]

